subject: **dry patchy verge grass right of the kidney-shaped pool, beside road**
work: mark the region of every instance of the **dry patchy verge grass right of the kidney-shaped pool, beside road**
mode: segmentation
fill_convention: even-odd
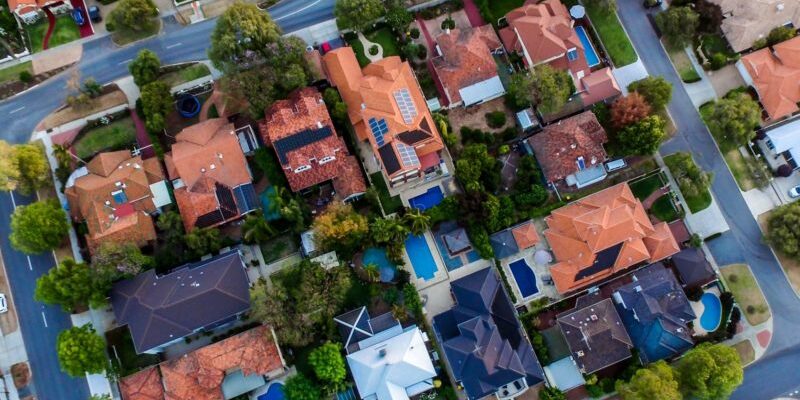
[[[770,317],[769,306],[750,268],[746,264],[733,264],[720,270],[747,322],[754,326],[766,322]]]

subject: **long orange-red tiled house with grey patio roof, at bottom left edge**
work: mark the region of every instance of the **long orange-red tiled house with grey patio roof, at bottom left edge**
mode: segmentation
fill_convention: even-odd
[[[275,334],[259,326],[122,378],[122,400],[229,400],[285,373]]]

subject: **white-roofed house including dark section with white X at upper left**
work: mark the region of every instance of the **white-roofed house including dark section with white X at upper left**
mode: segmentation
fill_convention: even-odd
[[[370,318],[366,307],[334,321],[362,399],[408,400],[434,388],[428,338],[416,325],[403,328],[391,313]]]

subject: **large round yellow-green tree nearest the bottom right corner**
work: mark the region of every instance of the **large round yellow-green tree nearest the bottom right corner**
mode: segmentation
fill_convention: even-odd
[[[744,379],[738,353],[721,343],[702,343],[689,350],[675,372],[681,391],[698,400],[727,399]]]

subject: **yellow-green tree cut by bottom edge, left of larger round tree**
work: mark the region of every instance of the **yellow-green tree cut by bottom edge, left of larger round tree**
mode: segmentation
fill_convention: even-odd
[[[664,360],[636,371],[630,382],[617,381],[617,392],[623,400],[682,399],[675,373]]]

